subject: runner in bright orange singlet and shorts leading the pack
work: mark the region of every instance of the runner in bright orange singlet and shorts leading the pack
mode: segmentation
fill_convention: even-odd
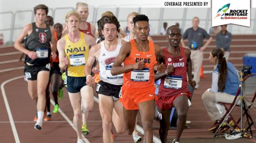
[[[152,124],[155,115],[154,66],[160,47],[148,41],[148,17],[142,14],[133,18],[136,39],[124,43],[112,66],[113,75],[123,74],[119,100],[123,104],[124,122],[129,134],[134,131],[137,112],[140,111],[144,142],[153,142]],[[124,63],[124,66],[121,64]]]

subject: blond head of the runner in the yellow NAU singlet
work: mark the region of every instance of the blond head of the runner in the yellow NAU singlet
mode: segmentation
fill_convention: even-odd
[[[65,21],[66,26],[68,27],[68,31],[77,31],[81,19],[76,11],[70,11],[67,13]]]

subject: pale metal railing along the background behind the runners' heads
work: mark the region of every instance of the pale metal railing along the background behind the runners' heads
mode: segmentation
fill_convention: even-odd
[[[107,7],[111,7],[112,10],[115,11],[114,14],[115,14],[115,16],[118,19],[122,19],[122,20],[120,20],[120,22],[126,22],[126,20],[124,20],[123,17],[125,17],[125,19],[126,19],[127,16],[123,16],[122,13],[120,13],[122,8],[123,7],[136,7],[136,6],[137,6],[137,10],[136,11],[138,13],[141,13],[141,11],[143,11],[143,9],[150,9],[150,8],[147,8],[147,7],[139,7],[139,5],[120,5],[120,6],[116,6],[116,5],[101,5],[101,6],[98,6],[98,7],[89,6],[90,9],[93,9],[93,10],[90,11],[90,14],[93,14],[92,20],[90,20],[90,22],[92,22],[92,24],[95,25],[96,21],[98,20],[97,18],[99,17],[98,15],[99,15],[100,9],[107,8]],[[51,10],[52,17],[55,19],[55,18],[57,18],[56,17],[56,13],[59,10],[74,10],[74,7],[58,7],[56,9],[50,9],[50,10]],[[183,30],[185,30],[186,22],[190,22],[191,21],[191,19],[186,18],[187,14],[188,14],[188,8],[183,8],[183,14],[182,14],[182,17],[180,19],[179,18],[176,18],[176,19],[164,18],[165,10],[167,10],[167,9],[159,8],[159,11],[156,11],[156,12],[159,12],[160,16],[157,17],[157,18],[150,18],[150,21],[155,21],[156,24],[158,22],[158,25],[154,25],[154,28],[157,29],[157,32],[153,33],[153,34],[160,33],[161,27],[163,25],[163,21],[174,21],[174,20],[182,21],[181,28]],[[15,27],[15,22],[17,20],[17,14],[24,13],[24,12],[30,12],[31,13],[31,20],[30,21],[33,22],[34,21],[34,13],[33,13],[32,10],[16,11],[14,14],[13,14],[13,12],[10,12],[10,11],[8,11],[8,12],[0,12],[0,14],[4,14],[4,15],[10,14],[11,15],[10,16],[11,17],[11,21],[10,21],[11,22],[11,27],[10,28],[2,28],[2,29],[0,29],[0,32],[1,31],[10,31],[9,41],[13,40],[13,33],[14,33],[15,30],[23,28],[23,27]],[[205,18],[200,18],[200,20],[205,21],[205,29],[206,29],[206,31],[208,31],[208,29],[211,27],[211,25],[210,25],[210,23],[211,23],[210,22],[210,20],[211,20],[211,9],[210,8],[207,9],[207,12],[205,14]],[[252,18],[251,21],[254,22],[254,25],[253,25],[251,33],[252,34],[256,34],[256,12],[255,12],[254,18]],[[124,27],[124,25],[122,25],[122,26]],[[232,25],[230,25],[228,27],[228,30],[232,32],[232,28],[233,28]],[[248,30],[246,30],[246,32],[247,31]]]

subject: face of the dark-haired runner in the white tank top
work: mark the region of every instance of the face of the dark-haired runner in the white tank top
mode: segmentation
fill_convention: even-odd
[[[113,41],[116,39],[117,29],[114,24],[105,24],[103,30],[101,30],[102,34],[105,37],[105,40]]]

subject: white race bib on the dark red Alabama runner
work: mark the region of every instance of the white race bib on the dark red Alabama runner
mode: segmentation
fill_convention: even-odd
[[[167,76],[164,79],[164,88],[174,88],[179,89],[182,86],[182,77],[181,76]]]

